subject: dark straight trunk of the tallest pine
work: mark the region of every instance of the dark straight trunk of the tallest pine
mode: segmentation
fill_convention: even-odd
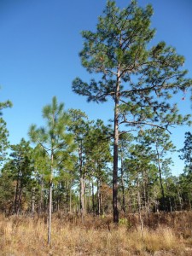
[[[118,144],[119,144],[119,85],[120,67],[118,67],[114,105],[114,143],[113,143],[113,223],[119,223],[118,210]]]

